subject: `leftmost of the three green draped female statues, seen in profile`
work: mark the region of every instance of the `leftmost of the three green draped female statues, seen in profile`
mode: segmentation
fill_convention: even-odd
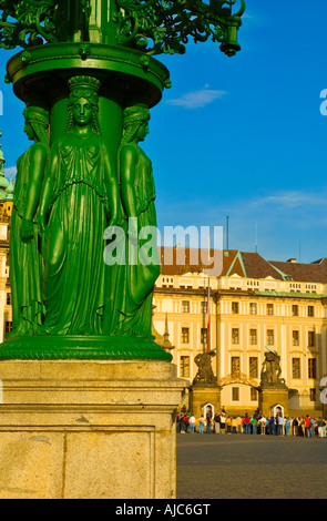
[[[44,316],[41,290],[43,270],[39,249],[38,213],[44,171],[49,162],[49,113],[40,106],[23,112],[24,132],[34,143],[17,162],[10,231],[12,334],[40,333]]]

